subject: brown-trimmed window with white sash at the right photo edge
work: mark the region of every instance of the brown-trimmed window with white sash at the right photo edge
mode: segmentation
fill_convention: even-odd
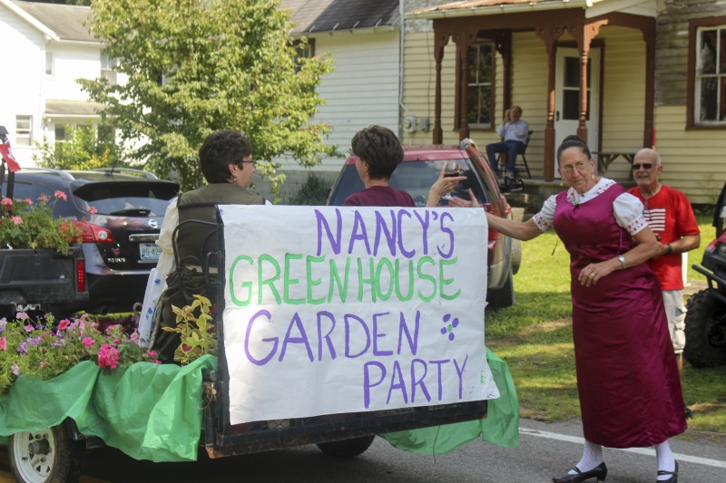
[[[726,123],[726,24],[696,31],[693,117],[696,124]]]

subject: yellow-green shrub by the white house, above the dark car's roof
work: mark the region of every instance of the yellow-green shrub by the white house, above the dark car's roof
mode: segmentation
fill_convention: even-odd
[[[35,142],[33,160],[41,168],[95,169],[119,163],[123,149],[113,136],[99,136],[93,126],[65,126],[67,140]],[[112,138],[112,139],[108,139]]]

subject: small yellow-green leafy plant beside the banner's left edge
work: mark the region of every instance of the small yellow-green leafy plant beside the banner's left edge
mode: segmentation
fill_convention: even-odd
[[[182,308],[172,305],[176,314],[176,327],[162,327],[162,330],[179,333],[182,343],[174,351],[174,361],[186,365],[202,355],[217,353],[217,333],[210,308],[210,300],[202,295],[194,295],[191,305]],[[197,309],[198,316],[194,315]]]

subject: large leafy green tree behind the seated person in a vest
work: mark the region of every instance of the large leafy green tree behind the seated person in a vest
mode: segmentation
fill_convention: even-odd
[[[328,126],[309,122],[330,61],[296,58],[278,0],[93,0],[92,8],[92,30],[128,82],[79,82],[109,106],[104,118],[147,169],[200,186],[197,152],[218,129],[250,138],[273,188],[284,180],[274,157],[313,166],[334,153],[322,142]]]

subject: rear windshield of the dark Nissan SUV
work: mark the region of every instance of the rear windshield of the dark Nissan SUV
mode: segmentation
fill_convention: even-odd
[[[74,195],[78,208],[98,215],[162,217],[176,190],[171,183],[88,183]]]

